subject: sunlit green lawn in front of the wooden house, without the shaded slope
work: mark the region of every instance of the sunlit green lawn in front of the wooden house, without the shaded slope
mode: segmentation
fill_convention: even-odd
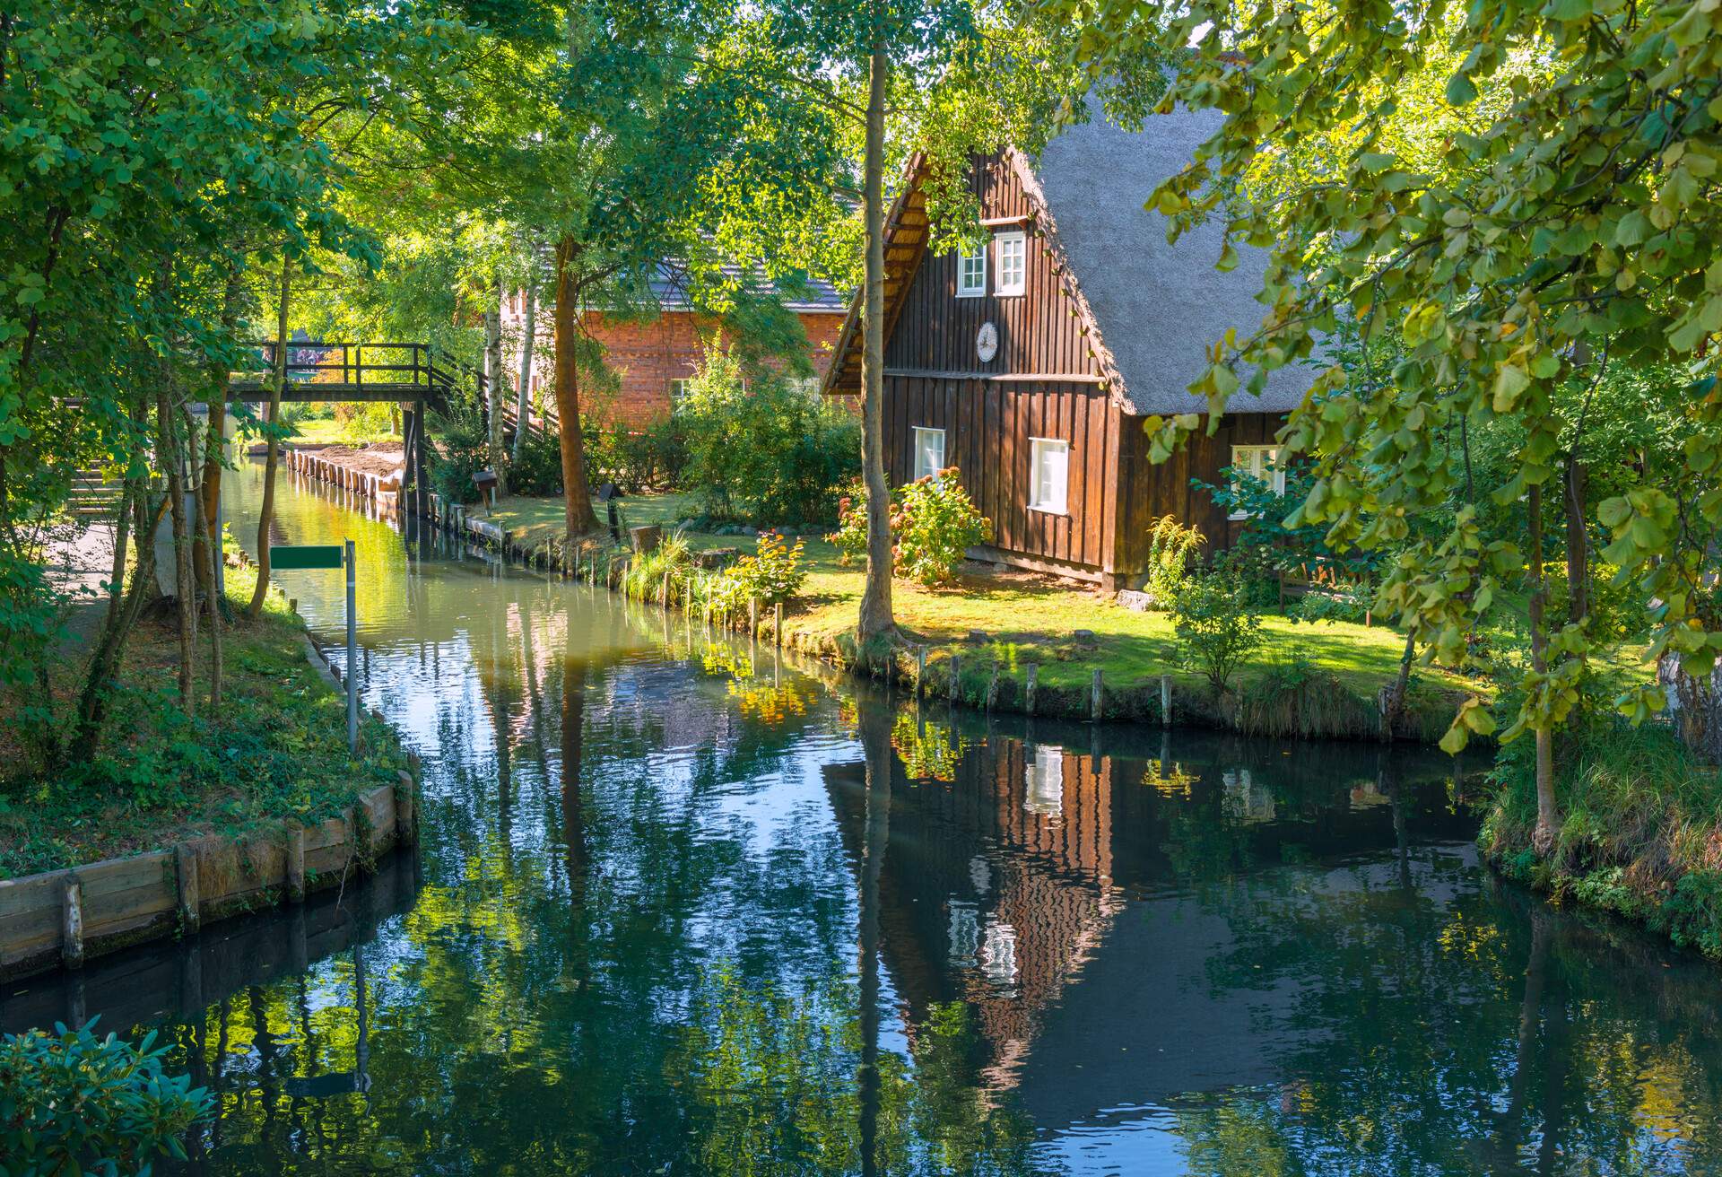
[[[623,501],[623,522],[630,526],[663,524],[692,515],[682,495],[653,495]],[[517,541],[534,545],[560,536],[561,500],[508,498],[489,512],[489,520]],[[747,536],[685,532],[696,550],[753,546]],[[861,600],[861,570],[842,567],[837,548],[823,538],[806,536],[811,576],[801,598],[790,607],[785,636],[802,648],[827,648],[854,627]],[[1128,688],[1161,674],[1173,674],[1180,686],[1197,688],[1200,677],[1186,670],[1176,655],[1173,624],[1166,613],[1138,613],[1114,605],[1095,589],[1068,584],[1028,572],[975,572],[945,589],[923,589],[897,581],[892,603],[899,626],[913,638],[938,648],[961,643],[969,632],[987,634],[1011,662],[1037,662],[1040,682],[1050,688],[1083,688],[1093,667],[1100,667],[1107,684]],[[1075,648],[1069,636],[1090,629],[1095,646]],[[1264,619],[1267,645],[1243,679],[1274,663],[1302,657],[1333,672],[1360,696],[1374,698],[1376,689],[1398,670],[1405,638],[1388,626],[1353,626],[1345,622],[1293,622],[1285,617]],[[1033,650],[1033,653],[1030,653]],[[937,653],[933,658],[937,660]],[[1452,691],[1488,691],[1481,681],[1436,669],[1419,669],[1429,686]]]

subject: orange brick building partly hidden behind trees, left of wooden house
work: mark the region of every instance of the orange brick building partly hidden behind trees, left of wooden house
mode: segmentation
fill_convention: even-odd
[[[680,286],[666,276],[653,283],[658,298],[654,319],[610,319],[601,310],[587,312],[585,333],[604,346],[604,364],[620,379],[611,412],[629,426],[642,426],[670,412],[682,381],[699,367],[704,339],[718,324],[696,312]],[[849,302],[830,286],[815,283],[804,298],[785,302],[808,333],[808,358],[815,379],[823,379],[844,327]],[[520,371],[520,339],[525,331],[525,298],[515,293],[503,312],[503,362],[510,376]],[[548,307],[539,307],[537,343],[532,350],[532,389],[549,395],[553,377],[554,334]]]

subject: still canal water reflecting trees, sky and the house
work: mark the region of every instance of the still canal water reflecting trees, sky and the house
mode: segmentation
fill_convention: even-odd
[[[420,855],[0,994],[160,1027],[191,1172],[1722,1172],[1722,972],[1491,881],[1445,757],[916,708],[282,491]]]

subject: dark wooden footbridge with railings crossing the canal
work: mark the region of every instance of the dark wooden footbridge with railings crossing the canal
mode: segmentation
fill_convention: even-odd
[[[234,372],[231,400],[267,403],[274,388],[276,341],[253,345],[257,364]],[[331,343],[288,339],[288,384],[282,402],[382,402],[401,407],[403,514],[429,514],[425,467],[425,408],[449,412],[458,395],[472,388],[487,403],[484,372],[455,364],[429,343]]]

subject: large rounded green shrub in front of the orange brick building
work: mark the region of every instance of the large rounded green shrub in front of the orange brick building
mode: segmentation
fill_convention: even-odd
[[[711,519],[830,522],[837,488],[861,464],[852,414],[778,372],[749,383],[722,348],[708,348],[675,417],[687,453],[682,481]]]

